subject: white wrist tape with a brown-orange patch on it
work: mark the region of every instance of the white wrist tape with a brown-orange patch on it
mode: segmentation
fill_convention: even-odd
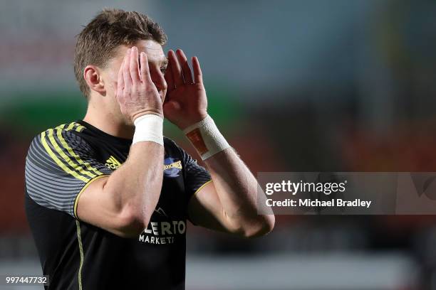
[[[202,121],[187,127],[183,132],[197,149],[202,160],[230,147],[209,115]]]

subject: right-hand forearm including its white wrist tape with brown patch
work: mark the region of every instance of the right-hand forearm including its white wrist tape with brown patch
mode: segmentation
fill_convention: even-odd
[[[211,117],[184,130],[212,175],[222,213],[215,215],[230,232],[247,237],[264,235],[274,227],[274,215],[258,215],[264,193],[253,174],[219,132]],[[217,206],[217,205],[216,205]]]

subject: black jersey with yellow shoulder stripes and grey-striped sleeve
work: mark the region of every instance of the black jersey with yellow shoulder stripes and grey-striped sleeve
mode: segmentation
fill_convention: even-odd
[[[118,237],[76,215],[78,196],[121,166],[131,144],[83,121],[33,139],[26,215],[50,278],[47,289],[185,289],[187,205],[210,175],[174,141],[164,139],[162,191],[139,237]]]

